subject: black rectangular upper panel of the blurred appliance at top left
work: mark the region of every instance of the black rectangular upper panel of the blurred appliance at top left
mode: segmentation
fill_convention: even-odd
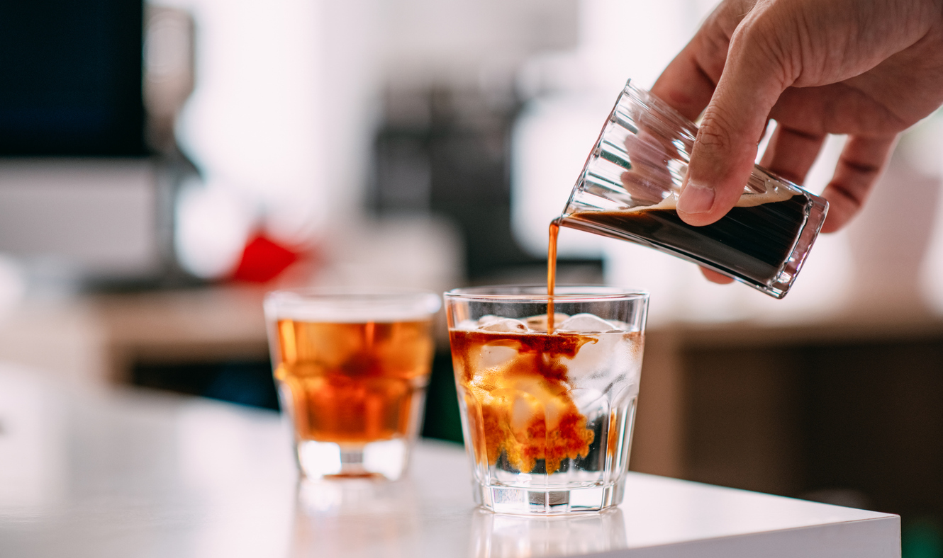
[[[144,156],[143,5],[0,2],[0,156]]]

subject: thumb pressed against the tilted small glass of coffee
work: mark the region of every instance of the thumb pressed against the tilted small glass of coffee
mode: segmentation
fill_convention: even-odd
[[[753,171],[769,111],[793,81],[783,63],[786,57],[771,48],[788,42],[770,40],[775,27],[768,32],[764,18],[755,16],[752,12],[737,26],[717,89],[704,110],[678,199],[678,215],[688,224],[710,224],[736,205]]]

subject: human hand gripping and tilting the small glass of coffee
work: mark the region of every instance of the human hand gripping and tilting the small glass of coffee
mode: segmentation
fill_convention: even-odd
[[[736,204],[770,118],[760,164],[800,184],[826,135],[847,134],[822,194],[835,231],[897,135],[943,104],[943,0],[724,0],[652,92],[691,120],[703,110],[678,201],[693,225]]]

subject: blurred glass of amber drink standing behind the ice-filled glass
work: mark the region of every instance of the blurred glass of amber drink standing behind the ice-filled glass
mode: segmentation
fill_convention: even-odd
[[[422,423],[438,295],[278,290],[264,305],[302,474],[399,479]]]

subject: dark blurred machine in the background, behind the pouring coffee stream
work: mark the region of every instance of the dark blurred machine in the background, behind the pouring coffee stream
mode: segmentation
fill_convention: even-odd
[[[455,222],[472,284],[547,277],[546,258],[524,252],[511,232],[510,131],[520,107],[510,84],[386,90],[368,208]],[[559,258],[557,273],[561,283],[600,283],[602,261]]]

